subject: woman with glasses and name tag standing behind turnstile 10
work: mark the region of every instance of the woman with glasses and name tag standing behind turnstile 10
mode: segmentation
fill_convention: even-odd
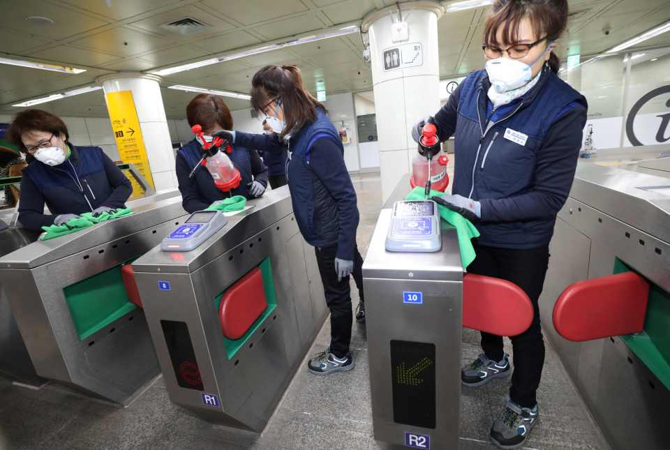
[[[470,73],[426,119],[440,140],[456,135],[453,195],[442,203],[481,233],[468,272],[516,283],[535,310],[528,330],[511,337],[510,398],[491,428],[502,448],[521,446],[537,421],[544,363],[537,300],[586,123],[586,99],[556,75],[553,47],[567,14],[567,0],[496,0],[484,30],[485,70]],[[426,121],[413,128],[415,139]],[[463,384],[479,387],[509,375],[502,336],[482,333],[482,354],[463,367]]]

